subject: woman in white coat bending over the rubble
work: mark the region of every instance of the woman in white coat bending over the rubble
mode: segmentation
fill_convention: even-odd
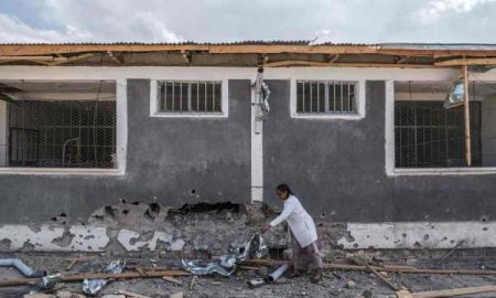
[[[287,221],[291,231],[292,276],[310,270],[310,280],[319,283],[322,279],[323,264],[316,245],[317,234],[312,216],[287,184],[278,185],[277,195],[284,202],[284,207],[278,217],[263,226],[263,230],[267,231]]]

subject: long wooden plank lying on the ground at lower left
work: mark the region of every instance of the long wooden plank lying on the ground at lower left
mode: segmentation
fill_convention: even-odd
[[[121,274],[63,274],[61,276],[61,281],[79,281],[86,278],[105,278],[105,279],[128,279],[128,278],[161,278],[162,276],[190,276],[191,273],[184,270],[163,270],[163,272],[148,272],[147,276],[141,276],[139,273],[121,273]],[[0,280],[0,287],[6,286],[20,286],[28,285],[30,283],[36,283],[37,278],[19,278],[19,279],[9,279],[9,280]]]

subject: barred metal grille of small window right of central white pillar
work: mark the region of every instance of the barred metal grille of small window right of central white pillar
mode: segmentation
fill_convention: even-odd
[[[296,81],[296,113],[358,114],[356,86],[356,82]]]

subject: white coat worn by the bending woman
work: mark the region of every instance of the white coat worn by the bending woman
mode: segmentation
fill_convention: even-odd
[[[303,209],[298,198],[292,194],[284,200],[282,213],[270,222],[270,226],[276,226],[284,220],[288,222],[300,247],[305,247],[317,240],[312,216]]]

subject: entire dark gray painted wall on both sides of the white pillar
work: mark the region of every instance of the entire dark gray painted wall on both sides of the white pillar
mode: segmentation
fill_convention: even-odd
[[[360,120],[290,117],[290,82],[269,81],[265,198],[289,183],[316,217],[344,222],[496,219],[496,175],[387,177],[385,84],[366,83]],[[228,118],[150,118],[148,79],[128,81],[123,177],[0,175],[0,223],[85,221],[126,199],[166,206],[250,201],[250,82],[229,81]],[[194,193],[193,193],[194,191]]]

